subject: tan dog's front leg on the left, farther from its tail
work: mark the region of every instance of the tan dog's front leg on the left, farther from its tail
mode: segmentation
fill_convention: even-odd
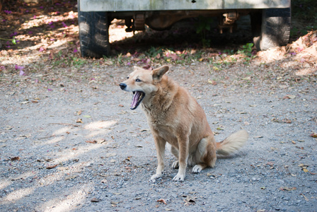
[[[164,153],[166,145],[166,141],[161,139],[159,136],[154,136],[154,142],[156,146],[157,167],[156,174],[152,175],[151,180],[155,180],[159,177],[162,177],[162,172],[164,170]]]

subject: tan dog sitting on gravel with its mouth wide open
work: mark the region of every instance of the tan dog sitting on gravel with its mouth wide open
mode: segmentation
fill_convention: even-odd
[[[216,153],[226,155],[238,150],[248,140],[248,133],[241,130],[216,143],[202,107],[185,88],[164,75],[166,71],[168,66],[153,71],[134,66],[120,88],[133,92],[131,109],[141,104],[154,136],[158,166],[151,179],[162,176],[168,142],[171,152],[178,158],[172,165],[179,168],[173,180],[183,181],[188,164],[195,165],[194,173],[214,167]]]

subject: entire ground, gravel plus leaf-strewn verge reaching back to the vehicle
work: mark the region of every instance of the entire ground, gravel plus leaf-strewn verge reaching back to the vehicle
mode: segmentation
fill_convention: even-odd
[[[126,34],[114,25],[115,56],[83,59],[76,1],[41,2],[34,14],[1,13],[1,37],[12,33],[16,45],[10,38],[0,51],[0,211],[316,211],[316,31],[287,49],[246,52],[234,44],[248,42],[241,34],[213,35],[208,49],[181,40],[195,35],[183,31],[115,43]],[[250,134],[216,167],[188,167],[185,182],[172,181],[168,152],[163,177],[149,180],[153,138],[118,86],[134,65],[163,64],[202,105],[217,141]]]

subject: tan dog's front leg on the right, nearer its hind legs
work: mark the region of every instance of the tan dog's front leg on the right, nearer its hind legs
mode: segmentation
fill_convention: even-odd
[[[188,160],[188,151],[189,151],[189,136],[188,134],[183,134],[178,136],[178,147],[179,147],[179,155],[178,155],[178,173],[173,178],[174,181],[184,181],[185,172],[187,167]]]

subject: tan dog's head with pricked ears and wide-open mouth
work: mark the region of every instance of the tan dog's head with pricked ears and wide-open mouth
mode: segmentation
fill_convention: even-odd
[[[132,110],[136,109],[142,100],[149,100],[151,94],[156,92],[157,84],[161,82],[166,71],[168,66],[162,66],[153,71],[134,66],[134,71],[129,74],[127,80],[120,83],[122,90],[133,93],[130,107]]]

